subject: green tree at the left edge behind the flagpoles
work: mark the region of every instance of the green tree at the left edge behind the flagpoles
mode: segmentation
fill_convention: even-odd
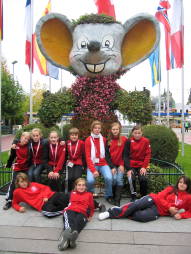
[[[6,65],[2,65],[2,118],[12,124],[21,115],[24,91],[8,72]]]

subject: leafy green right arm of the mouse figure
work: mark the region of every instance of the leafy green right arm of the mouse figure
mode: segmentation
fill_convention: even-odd
[[[118,110],[131,122],[137,124],[148,124],[152,120],[152,105],[148,90],[118,92],[113,106],[118,106]]]

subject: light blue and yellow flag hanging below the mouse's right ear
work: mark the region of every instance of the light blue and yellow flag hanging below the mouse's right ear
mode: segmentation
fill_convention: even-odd
[[[159,47],[150,55],[149,62],[151,66],[152,86],[155,86],[161,81],[161,66],[160,66],[160,54]]]

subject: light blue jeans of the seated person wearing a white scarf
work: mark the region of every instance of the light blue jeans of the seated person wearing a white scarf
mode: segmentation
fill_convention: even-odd
[[[105,166],[95,166],[96,170],[101,173],[101,175],[104,178],[105,181],[105,198],[112,197],[112,173],[111,169],[108,165]],[[94,192],[94,183],[95,183],[95,177],[92,174],[92,172],[87,169],[87,186],[88,191]]]

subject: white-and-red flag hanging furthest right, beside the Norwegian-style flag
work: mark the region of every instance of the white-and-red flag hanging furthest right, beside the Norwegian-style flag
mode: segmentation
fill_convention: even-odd
[[[174,55],[175,67],[182,68],[184,64],[184,24],[182,0],[174,0],[172,7],[171,47]]]

